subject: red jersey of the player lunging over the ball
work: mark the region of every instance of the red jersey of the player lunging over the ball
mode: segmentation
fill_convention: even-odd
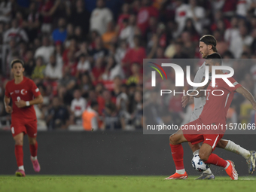
[[[200,119],[204,124],[226,122],[227,110],[230,108],[235,90],[241,87],[233,78],[227,79],[234,87],[229,87],[226,82],[220,78],[216,79],[215,87],[212,87],[212,82],[207,87],[207,90],[210,91],[206,92],[206,105],[204,105],[202,114],[200,114]],[[224,94],[222,96],[214,96],[212,94],[213,90],[216,90],[214,91],[215,95],[221,95],[222,93],[217,90],[222,90]]]

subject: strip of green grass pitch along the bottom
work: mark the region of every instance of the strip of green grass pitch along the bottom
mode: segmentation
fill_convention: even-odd
[[[166,175],[167,176],[167,175]],[[27,175],[25,178],[0,175],[0,191],[173,191],[232,192],[255,191],[256,177],[217,177],[214,181],[164,180],[165,176],[105,176],[105,175]]]

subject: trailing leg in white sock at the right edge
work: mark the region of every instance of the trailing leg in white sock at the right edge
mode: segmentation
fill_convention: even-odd
[[[256,161],[256,153],[255,151],[248,151],[245,148],[242,148],[240,145],[230,141],[221,139],[218,144],[217,148],[224,148],[227,151],[231,151],[235,154],[240,154],[242,157],[245,158],[246,163],[248,164],[248,173],[252,174],[255,169],[255,161]]]

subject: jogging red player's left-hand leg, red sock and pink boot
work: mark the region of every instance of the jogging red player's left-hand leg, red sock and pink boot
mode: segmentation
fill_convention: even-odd
[[[15,157],[17,161],[18,170],[15,172],[17,176],[25,176],[25,169],[23,166],[23,136],[24,133],[18,133],[14,136],[15,141]]]

